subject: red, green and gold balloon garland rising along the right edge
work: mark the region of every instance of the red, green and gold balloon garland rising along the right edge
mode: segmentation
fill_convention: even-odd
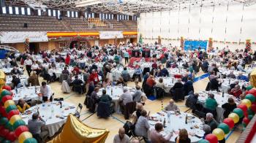
[[[206,135],[206,139],[202,139],[198,143],[218,143],[218,141],[225,138],[225,134],[228,134],[239,120],[242,120],[242,124],[246,127],[255,113],[256,89],[249,87],[247,88],[245,98],[238,107],[233,109],[233,112],[223,120],[223,123],[219,123],[218,127],[212,131],[212,134]]]

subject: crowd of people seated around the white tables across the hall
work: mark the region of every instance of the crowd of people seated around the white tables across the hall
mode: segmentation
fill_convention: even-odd
[[[154,88],[162,88],[165,90],[166,86],[163,82],[164,78],[162,77],[171,77],[168,70],[182,66],[182,69],[185,69],[186,73],[183,73],[183,75],[177,79],[177,82],[171,88],[169,93],[175,95],[176,89],[183,90],[184,96],[188,96],[187,104],[192,108],[192,112],[198,110],[206,113],[205,123],[211,127],[211,131],[216,126],[214,117],[216,117],[217,114],[216,109],[218,107],[218,103],[214,98],[215,95],[209,94],[205,104],[198,104],[198,94],[194,93],[193,89],[195,74],[197,74],[200,69],[206,73],[208,72],[210,74],[208,77],[210,82],[208,90],[219,90],[221,87],[219,74],[221,74],[220,68],[222,67],[217,65],[217,63],[221,63],[221,66],[224,65],[225,69],[230,70],[230,74],[227,74],[226,76],[227,78],[248,81],[249,78],[246,76],[247,71],[244,64],[248,64],[252,59],[255,59],[253,58],[255,55],[250,55],[251,58],[248,58],[249,55],[247,55],[245,51],[230,52],[229,50],[219,50],[219,55],[214,55],[210,61],[208,60],[206,51],[195,50],[192,51],[192,53],[185,53],[184,51],[173,47],[173,49],[166,51],[158,50],[159,53],[157,53],[157,55],[160,55],[160,58],[152,60],[151,67],[149,68],[151,70],[144,73],[140,63],[134,63],[134,65],[127,64],[129,63],[130,51],[136,48],[141,48],[143,50],[146,49],[146,46],[105,45],[102,47],[86,47],[86,49],[83,50],[67,50],[65,51],[67,53],[65,55],[61,55],[59,51],[40,51],[39,58],[41,58],[41,60],[35,58],[37,55],[26,51],[21,53],[19,58],[21,61],[20,63],[28,72],[29,85],[39,85],[38,76],[45,78],[46,82],[41,83],[39,92],[41,93],[40,95],[44,102],[53,100],[53,92],[50,88],[50,83],[56,82],[60,78],[56,73],[59,69],[61,69],[60,74],[67,74],[67,83],[73,90],[78,93],[86,93],[86,100],[84,101],[85,104],[93,103],[95,106],[99,104],[99,102],[104,102],[108,104],[111,110],[113,110],[113,107],[115,106],[112,98],[107,94],[106,90],[102,90],[102,95],[99,95],[99,89],[113,85],[125,86],[129,80],[134,80],[136,83],[135,93],[130,93],[127,87],[124,87],[123,93],[120,95],[118,104],[120,104],[122,112],[124,112],[128,103],[140,103],[141,98],[143,98],[143,92],[146,93],[146,96],[150,96],[154,94]],[[15,61],[15,58],[13,58],[13,55],[9,55],[8,58],[10,58],[9,61],[4,61],[5,66],[14,66],[10,72],[10,74],[13,75],[12,88],[20,88],[20,79],[16,75],[23,74],[23,71],[18,69],[18,63]],[[126,59],[125,65],[121,62],[122,58]],[[187,58],[188,61],[185,60]],[[80,61],[83,59],[86,59],[84,62],[86,64],[81,66]],[[143,61],[145,59],[141,60]],[[184,63],[179,65],[178,63],[180,62]],[[118,80],[113,81],[113,78],[110,77],[109,74],[112,69],[118,67],[122,67],[124,70],[121,71],[121,77],[117,78]],[[132,77],[129,77],[129,68],[135,69]],[[235,70],[239,71],[238,75],[234,74],[233,71]],[[83,77],[83,80],[81,80],[80,77]],[[156,81],[154,78],[159,78],[159,81]],[[138,82],[143,82],[142,87],[140,87]],[[239,87],[238,82],[235,83],[235,85],[233,85],[233,83],[230,84],[229,93],[236,98],[241,98],[243,96],[243,91],[241,90],[241,87]],[[80,85],[81,87],[79,87]],[[225,109],[224,117],[227,117],[229,112],[236,107],[235,105],[234,101],[230,98],[228,99],[227,104],[222,105],[222,108]],[[22,100],[17,106],[21,111],[24,110],[23,108],[25,108],[25,110],[29,108]],[[176,104],[173,103],[173,100],[170,100],[170,103],[167,105],[165,110],[179,111]],[[96,109],[94,108],[93,112],[95,111]],[[136,111],[136,115],[137,112],[138,120],[135,124],[135,133],[147,138],[148,136],[145,133],[149,129],[147,121],[148,114],[146,110],[141,107]],[[33,118],[33,120],[39,119],[39,115],[35,115]],[[41,124],[43,125],[43,123],[40,123],[40,125]],[[158,134],[159,131],[162,131],[162,126],[155,126],[155,131],[152,131],[152,134],[154,134],[152,139],[162,139]],[[37,136],[37,131],[33,132],[33,135]],[[125,139],[122,136],[118,136],[116,138]],[[187,131],[181,131],[176,140],[179,142],[190,142],[187,138]]]

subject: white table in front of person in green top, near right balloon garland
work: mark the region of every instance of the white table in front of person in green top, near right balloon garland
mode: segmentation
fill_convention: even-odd
[[[224,96],[222,97],[222,93],[218,93],[217,91],[200,91],[198,94],[198,102],[200,104],[205,104],[206,99],[208,98],[208,93],[213,93],[214,94],[214,98],[216,99],[217,103],[219,104],[218,107],[216,108],[217,110],[217,121],[219,123],[222,122],[223,120],[223,113],[224,113],[224,109],[222,108],[222,105],[227,103],[227,99],[228,98],[233,98],[234,101],[236,102],[236,104],[239,104],[239,99],[236,98],[235,96],[232,96],[230,94],[224,93]]]

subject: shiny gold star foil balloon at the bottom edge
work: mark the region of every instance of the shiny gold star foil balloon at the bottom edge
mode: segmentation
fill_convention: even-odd
[[[67,123],[59,135],[51,143],[104,143],[109,131],[106,129],[91,128],[80,122],[75,116],[69,115]]]

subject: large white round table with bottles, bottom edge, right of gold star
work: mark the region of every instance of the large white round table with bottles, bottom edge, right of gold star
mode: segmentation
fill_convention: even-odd
[[[185,123],[187,116],[187,124]],[[162,123],[165,120],[166,127],[164,131],[160,132],[162,136],[167,136],[170,132],[173,132],[173,136],[170,138],[170,142],[175,142],[176,137],[178,136],[179,130],[185,128],[188,131],[189,139],[191,142],[198,142],[201,137],[203,137],[203,123],[198,118],[189,113],[181,112],[181,114],[176,114],[173,111],[166,112],[157,112],[151,116],[153,120],[148,120],[150,128],[154,128],[156,123]],[[196,135],[196,136],[195,136]],[[150,137],[148,137],[150,139]]]

